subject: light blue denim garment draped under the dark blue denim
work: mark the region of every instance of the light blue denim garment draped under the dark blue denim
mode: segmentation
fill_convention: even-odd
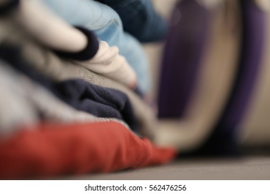
[[[141,44],[125,33],[115,10],[92,0],[42,0],[67,23],[93,30],[98,39],[110,46],[118,46],[138,76],[138,85],[144,93],[150,90],[150,72]]]

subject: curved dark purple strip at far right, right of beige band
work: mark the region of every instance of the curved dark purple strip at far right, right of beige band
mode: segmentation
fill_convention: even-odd
[[[242,8],[242,51],[231,94],[213,134],[199,150],[203,154],[223,155],[237,153],[238,131],[255,87],[262,63],[266,37],[267,14],[253,1],[241,0]]]

